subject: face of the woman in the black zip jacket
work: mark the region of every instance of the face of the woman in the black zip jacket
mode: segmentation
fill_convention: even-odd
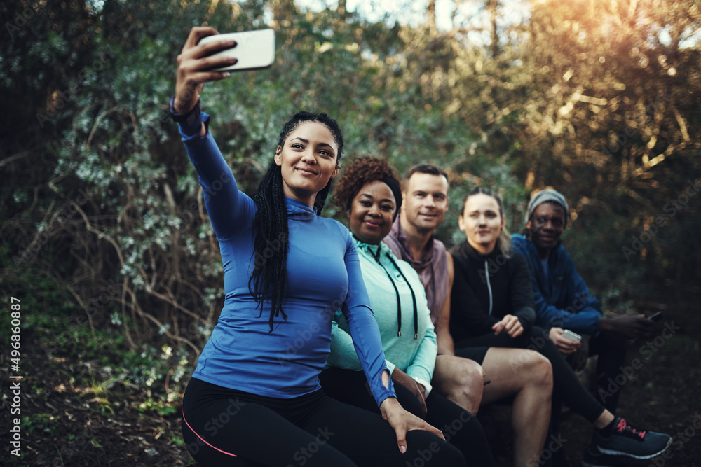
[[[465,202],[458,225],[465,232],[472,248],[479,253],[489,254],[494,251],[506,219],[501,215],[499,203],[493,196],[477,193]]]

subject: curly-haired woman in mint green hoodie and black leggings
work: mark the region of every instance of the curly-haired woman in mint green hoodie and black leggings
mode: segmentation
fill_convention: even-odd
[[[441,429],[470,465],[493,466],[479,421],[431,392],[438,346],[426,293],[414,268],[394,256],[382,242],[402,205],[395,170],[385,160],[360,158],[344,170],[334,200],[348,214],[397,399],[405,410]],[[328,396],[376,412],[361,370],[346,320],[336,313],[331,354],[327,369],[320,375],[322,388]]]

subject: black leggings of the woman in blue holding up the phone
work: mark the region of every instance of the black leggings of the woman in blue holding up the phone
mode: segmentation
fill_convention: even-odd
[[[462,454],[428,431],[407,433],[407,452],[377,414],[320,391],[279,399],[191,379],[182,434],[202,466],[465,466]]]

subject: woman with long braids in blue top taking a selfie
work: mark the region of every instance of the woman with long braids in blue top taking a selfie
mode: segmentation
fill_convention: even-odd
[[[203,83],[228,76],[206,70],[233,63],[206,56],[231,42],[198,46],[213,34],[191,30],[170,104],[204,188],[226,292],[183,398],[189,452],[203,466],[404,466],[436,443],[426,465],[463,465],[440,431],[397,402],[353,239],[319,215],[343,151],[338,125],[325,113],[297,113],[256,193],[241,193],[200,111]],[[339,307],[382,417],[320,389]]]

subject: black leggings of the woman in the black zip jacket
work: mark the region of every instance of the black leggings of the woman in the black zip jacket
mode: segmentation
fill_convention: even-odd
[[[489,333],[477,337],[469,337],[456,342],[456,356],[468,356],[470,354],[469,347],[508,347],[510,349],[538,351],[547,357],[552,365],[553,400],[562,401],[571,410],[592,423],[604,412],[604,406],[582,385],[572,367],[557,350],[552,340],[547,338],[547,333],[542,328],[533,326],[531,330],[524,332],[518,337],[509,337],[505,332],[501,332],[498,335]],[[519,362],[514,361],[511,364],[512,368],[517,370]]]

